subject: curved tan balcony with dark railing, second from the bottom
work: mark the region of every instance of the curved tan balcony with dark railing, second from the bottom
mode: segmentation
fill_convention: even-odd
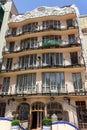
[[[14,67],[13,69],[1,69],[0,76],[11,76],[17,74],[37,73],[37,72],[82,72],[85,70],[84,64],[71,65],[31,65],[28,67]]]

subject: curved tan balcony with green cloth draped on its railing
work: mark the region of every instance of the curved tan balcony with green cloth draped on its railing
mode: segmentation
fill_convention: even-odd
[[[67,42],[68,43],[68,42]],[[73,42],[72,44],[63,44],[62,41],[55,41],[55,40],[49,40],[48,42],[43,42],[42,46],[39,46],[39,43],[37,44],[37,46],[29,48],[29,47],[25,47],[25,48],[20,48],[20,49],[15,49],[13,51],[10,50],[3,50],[3,56],[4,57],[18,57],[21,55],[25,55],[25,54],[34,54],[34,53],[44,53],[44,49],[45,52],[49,51],[49,52],[74,52],[74,51],[79,51],[81,50],[81,43],[79,43],[78,41]]]

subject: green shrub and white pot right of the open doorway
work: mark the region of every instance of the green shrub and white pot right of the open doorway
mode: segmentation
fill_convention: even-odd
[[[42,124],[43,124],[43,130],[50,130],[52,121],[50,118],[43,118]]]

